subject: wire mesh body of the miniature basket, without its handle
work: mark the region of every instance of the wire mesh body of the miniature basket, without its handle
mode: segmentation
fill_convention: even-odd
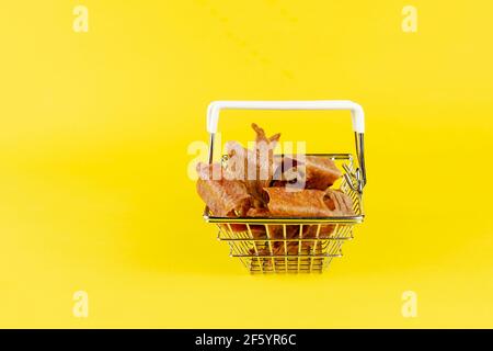
[[[229,244],[230,256],[251,273],[322,272],[333,258],[342,256],[342,245],[353,239],[354,226],[363,222],[363,194],[354,185],[358,179],[352,155],[317,156],[328,157],[343,169],[343,177],[332,188],[352,199],[354,216],[215,217],[206,207],[205,220],[218,226],[218,239]]]

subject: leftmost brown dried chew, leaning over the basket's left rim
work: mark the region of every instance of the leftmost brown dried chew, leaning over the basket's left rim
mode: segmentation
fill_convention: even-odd
[[[251,196],[244,184],[227,180],[219,163],[197,165],[197,193],[215,216],[243,216],[250,208]]]

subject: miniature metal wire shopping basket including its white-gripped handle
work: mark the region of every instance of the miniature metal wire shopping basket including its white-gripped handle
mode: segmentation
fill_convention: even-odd
[[[353,238],[353,227],[364,219],[363,188],[366,184],[364,157],[364,112],[352,101],[216,101],[207,112],[210,134],[209,163],[214,157],[214,141],[220,110],[348,110],[353,117],[356,154],[311,154],[332,159],[343,169],[343,177],[334,188],[353,200],[354,216],[344,217],[217,217],[206,207],[204,218],[218,226],[218,239],[227,241],[230,256],[252,273],[322,272],[341,247]],[[222,162],[227,162],[222,157]],[[355,165],[357,162],[357,165]],[[261,229],[264,235],[255,233]],[[274,235],[275,234],[275,235]]]

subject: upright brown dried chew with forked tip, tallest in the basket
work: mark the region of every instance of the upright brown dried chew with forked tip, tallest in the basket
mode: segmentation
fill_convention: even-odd
[[[252,124],[256,133],[255,147],[253,150],[243,148],[237,141],[226,144],[228,165],[226,171],[228,178],[242,181],[249,194],[253,197],[254,207],[265,207],[264,188],[268,186],[274,173],[274,148],[279,140],[280,134],[271,137],[265,135],[264,129]]]

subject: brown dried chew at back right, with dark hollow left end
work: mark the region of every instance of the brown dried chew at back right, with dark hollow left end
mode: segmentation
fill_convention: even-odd
[[[325,190],[342,177],[334,161],[324,156],[284,156],[273,186],[297,183],[305,189]]]

